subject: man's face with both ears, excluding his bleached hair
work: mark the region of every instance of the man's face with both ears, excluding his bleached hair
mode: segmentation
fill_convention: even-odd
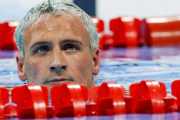
[[[69,82],[93,86],[93,75],[100,68],[99,51],[90,52],[82,22],[67,14],[52,15],[35,25],[29,25],[24,32],[24,58],[16,57],[19,78],[48,88]]]

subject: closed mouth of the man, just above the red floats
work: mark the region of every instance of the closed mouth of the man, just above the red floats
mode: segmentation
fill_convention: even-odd
[[[73,82],[73,79],[66,79],[66,78],[55,78],[51,80],[46,80],[44,84],[50,84],[50,85],[61,85],[63,83],[70,83]]]

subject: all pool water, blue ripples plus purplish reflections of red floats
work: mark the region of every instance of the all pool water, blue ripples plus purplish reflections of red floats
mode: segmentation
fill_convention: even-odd
[[[0,86],[24,85],[19,80],[14,51],[0,51]],[[165,83],[167,91],[171,83],[180,79],[180,47],[119,48],[100,52],[101,70],[95,78],[96,86],[116,81],[129,89],[132,83],[154,79]],[[58,119],[58,118],[56,118]],[[180,113],[125,114],[114,116],[90,116],[61,118],[61,120],[177,120]]]

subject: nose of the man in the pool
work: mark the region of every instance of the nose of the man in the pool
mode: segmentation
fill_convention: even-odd
[[[51,64],[49,70],[60,74],[63,70],[67,69],[65,58],[63,57],[60,50],[55,50],[51,56]]]

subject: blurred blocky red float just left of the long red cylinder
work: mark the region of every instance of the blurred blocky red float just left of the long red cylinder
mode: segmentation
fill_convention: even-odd
[[[118,17],[110,20],[115,47],[138,47],[141,41],[141,21],[133,17]]]

